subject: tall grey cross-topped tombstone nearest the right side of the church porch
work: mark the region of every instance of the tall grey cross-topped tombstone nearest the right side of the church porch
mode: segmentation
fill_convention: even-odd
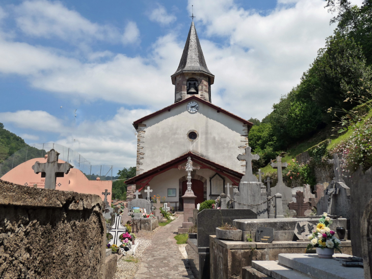
[[[250,206],[261,204],[261,202],[267,200],[268,194],[266,187],[262,182],[258,182],[257,177],[252,172],[252,160],[258,160],[259,155],[251,154],[251,147],[245,148],[246,154],[237,156],[240,161],[246,161],[246,173],[242,177],[239,183],[239,190],[234,187],[234,200],[240,202],[234,203],[235,209],[251,209],[257,213],[257,218],[268,218],[268,204],[264,202],[259,206]]]

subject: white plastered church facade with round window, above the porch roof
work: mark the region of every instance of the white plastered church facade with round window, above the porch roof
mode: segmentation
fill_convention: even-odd
[[[187,104],[172,108],[143,121],[137,129],[141,136],[141,171],[147,171],[192,151],[232,170],[243,172],[244,162],[236,160],[248,143],[248,129],[243,122],[199,103],[197,113],[190,115]],[[192,116],[192,117],[190,117]],[[197,125],[195,124],[197,123]],[[198,137],[188,138],[191,131]],[[156,148],[153,148],[156,146]],[[146,152],[151,150],[151,152]],[[226,158],[231,158],[227,160]],[[138,172],[137,174],[139,174]]]

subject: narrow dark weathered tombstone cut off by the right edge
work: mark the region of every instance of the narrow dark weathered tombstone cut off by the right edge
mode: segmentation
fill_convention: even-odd
[[[361,217],[360,235],[364,278],[372,278],[372,199],[369,200]]]

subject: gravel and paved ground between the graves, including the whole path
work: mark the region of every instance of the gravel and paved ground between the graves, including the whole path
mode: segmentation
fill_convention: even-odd
[[[114,279],[124,278],[194,278],[187,263],[186,244],[177,244],[174,237],[183,222],[183,215],[152,232],[139,231],[139,245],[134,256],[121,257]]]

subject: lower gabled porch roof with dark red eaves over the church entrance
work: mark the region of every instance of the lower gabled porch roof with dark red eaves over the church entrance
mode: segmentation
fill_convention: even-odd
[[[152,180],[153,177],[174,168],[175,165],[179,166],[180,164],[187,162],[187,158],[189,156],[192,158],[193,163],[198,164],[204,168],[211,167],[215,168],[214,170],[217,173],[228,177],[228,179],[230,179],[232,183],[235,185],[239,184],[240,180],[244,175],[243,173],[216,164],[215,162],[209,161],[208,159],[205,159],[200,155],[196,155],[190,151],[189,153],[183,154],[182,156],[175,158],[163,165],[157,166],[156,168],[150,169],[139,175],[136,175],[135,177],[126,180],[124,183],[127,185],[136,184],[140,186],[140,189],[137,190],[141,191],[143,187],[145,187]]]

